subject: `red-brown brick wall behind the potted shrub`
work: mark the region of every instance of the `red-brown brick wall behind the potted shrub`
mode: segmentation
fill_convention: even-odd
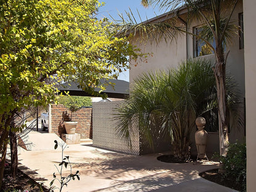
[[[67,110],[65,106],[52,105],[52,133],[55,133],[61,137],[62,134],[66,134],[65,127],[63,125],[62,114],[66,113],[71,116],[71,111]],[[81,134],[81,138],[92,138],[92,108],[81,108],[72,114],[72,121],[77,121],[76,133]]]

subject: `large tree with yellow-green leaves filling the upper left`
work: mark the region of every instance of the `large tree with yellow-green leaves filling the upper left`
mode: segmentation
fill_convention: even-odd
[[[0,188],[15,114],[55,101],[58,82],[76,79],[95,94],[138,50],[98,20],[97,0],[0,0]]]

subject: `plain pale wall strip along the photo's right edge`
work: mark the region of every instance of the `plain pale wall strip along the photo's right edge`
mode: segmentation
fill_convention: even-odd
[[[256,172],[256,1],[244,0],[244,61],[246,76],[246,149],[247,149],[247,191],[255,191]]]

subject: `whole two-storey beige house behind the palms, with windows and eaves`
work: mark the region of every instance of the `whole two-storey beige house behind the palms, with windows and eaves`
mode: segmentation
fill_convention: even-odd
[[[238,2],[236,9],[231,16],[231,23],[243,29],[243,4],[242,0]],[[186,28],[188,33],[198,33],[201,30],[200,20],[192,20],[187,23],[187,11],[185,7],[174,10],[168,14],[162,14],[158,17],[151,18],[147,22],[165,22],[172,17],[177,17],[177,26]],[[239,30],[235,31],[237,35],[232,36],[231,41],[225,46],[225,56],[227,57],[227,73],[236,80],[238,89],[241,91],[241,100],[245,100],[245,65],[244,65],[244,36]],[[198,41],[190,34],[180,33],[176,39],[162,39],[161,41],[133,42],[144,53],[149,53],[146,60],[132,60],[130,62],[130,89],[134,79],[140,74],[155,70],[168,70],[177,68],[177,66],[186,59],[190,58],[214,58],[213,52],[209,52],[207,45]],[[213,45],[214,46],[214,45]],[[245,116],[245,108],[241,108],[241,113]],[[196,131],[196,130],[194,130]],[[215,153],[219,151],[218,129],[208,134],[207,151]],[[245,128],[239,130],[230,130],[230,142],[245,140]],[[191,140],[194,142],[193,134]],[[194,145],[194,144],[192,144]]]

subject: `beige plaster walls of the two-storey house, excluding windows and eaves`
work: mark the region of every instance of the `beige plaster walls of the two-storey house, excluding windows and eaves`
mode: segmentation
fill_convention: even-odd
[[[236,9],[231,17],[231,22],[238,26],[239,17],[238,15],[243,12],[242,0],[238,2]],[[184,15],[183,20],[184,19]],[[182,24],[180,22],[180,24]],[[195,20],[188,23],[188,31],[193,32],[194,26],[199,26],[202,23],[196,22]],[[142,49],[145,53],[153,52],[153,55],[149,56],[146,62],[130,62],[130,89],[132,89],[132,81],[137,78],[140,74],[146,73],[148,71],[154,70],[166,70],[168,68],[176,68],[180,62],[186,58],[193,58],[193,37],[188,35],[186,39],[185,34],[178,36],[177,41],[171,44],[166,43],[166,41],[161,41],[158,44],[150,41],[144,44],[136,44],[137,47]],[[186,44],[187,42],[187,44]],[[231,44],[226,46],[226,52],[230,51],[227,60],[227,70],[230,71],[231,76],[236,79],[238,83],[239,90],[241,90],[241,100],[245,97],[245,74],[244,74],[244,49],[239,49],[239,36],[233,36]],[[187,49],[187,50],[186,50]],[[186,52],[187,51],[187,52]],[[188,53],[188,55],[186,55]],[[214,58],[214,55],[202,56],[202,58]],[[135,64],[137,66],[135,66]],[[244,109],[241,108],[241,113],[244,113]],[[230,142],[236,142],[238,139],[244,142],[244,129],[241,130],[231,130],[229,134]],[[192,146],[194,146],[194,135],[191,134]],[[218,133],[208,134],[207,151],[210,154],[219,151],[219,138]]]

